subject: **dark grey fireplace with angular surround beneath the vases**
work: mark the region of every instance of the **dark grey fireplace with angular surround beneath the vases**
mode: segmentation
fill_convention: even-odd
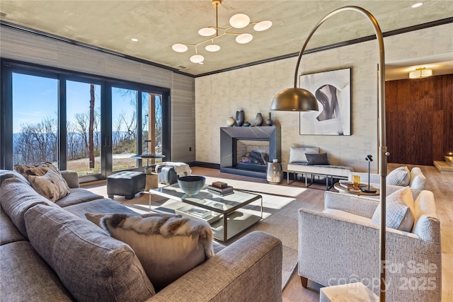
[[[220,171],[266,178],[267,163],[281,161],[280,127],[220,128]]]

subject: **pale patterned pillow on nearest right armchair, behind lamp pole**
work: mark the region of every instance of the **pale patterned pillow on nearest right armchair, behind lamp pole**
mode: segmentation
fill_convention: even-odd
[[[386,197],[387,228],[410,232],[413,226],[413,196],[409,187],[403,187]],[[381,204],[374,211],[372,223],[381,223]]]

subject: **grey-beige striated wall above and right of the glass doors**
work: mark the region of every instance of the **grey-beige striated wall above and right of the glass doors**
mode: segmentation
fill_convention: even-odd
[[[171,158],[195,161],[193,77],[4,26],[0,27],[0,47],[1,57],[7,59],[170,88]]]

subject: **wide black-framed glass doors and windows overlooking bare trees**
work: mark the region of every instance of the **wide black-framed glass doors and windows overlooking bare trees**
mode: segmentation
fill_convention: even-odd
[[[1,61],[0,168],[50,161],[82,181],[142,170],[131,156],[169,157],[169,91]],[[151,161],[151,163],[155,163]]]

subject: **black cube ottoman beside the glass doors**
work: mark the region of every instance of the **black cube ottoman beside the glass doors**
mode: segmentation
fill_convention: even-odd
[[[135,194],[144,190],[145,183],[146,175],[143,172],[122,171],[110,175],[107,178],[108,198],[120,195],[132,199]]]

